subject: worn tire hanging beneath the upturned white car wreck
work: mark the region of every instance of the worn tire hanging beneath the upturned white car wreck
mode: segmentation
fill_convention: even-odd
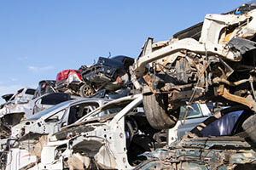
[[[166,113],[166,105],[162,94],[144,94],[143,107],[151,127],[167,129],[175,126],[177,121]]]

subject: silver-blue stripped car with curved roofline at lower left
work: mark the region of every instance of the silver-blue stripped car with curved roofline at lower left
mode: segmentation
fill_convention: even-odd
[[[40,159],[41,149],[47,142],[47,135],[56,133],[61,127],[78,121],[90,111],[108,103],[110,99],[73,99],[55,105],[48,110],[38,112],[20,124],[12,127],[12,135],[8,140],[3,140],[7,152],[6,169],[20,169]],[[29,155],[30,159],[22,154]],[[12,158],[15,157],[15,160]]]

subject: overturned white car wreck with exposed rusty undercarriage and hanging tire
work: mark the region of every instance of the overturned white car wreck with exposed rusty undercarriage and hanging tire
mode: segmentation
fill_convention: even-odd
[[[227,14],[207,14],[204,22],[164,42],[148,38],[130,72],[152,127],[175,126],[173,110],[194,102],[256,111],[255,8],[244,4]]]

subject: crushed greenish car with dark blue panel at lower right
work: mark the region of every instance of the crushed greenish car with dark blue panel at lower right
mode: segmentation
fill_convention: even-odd
[[[249,117],[249,118],[248,118]],[[252,121],[253,120],[253,121]],[[145,152],[135,169],[255,169],[255,113],[242,105],[218,111],[169,147]]]

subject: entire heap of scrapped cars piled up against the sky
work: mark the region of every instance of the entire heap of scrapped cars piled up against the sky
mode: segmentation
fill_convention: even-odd
[[[33,97],[5,95],[0,167],[255,169],[255,81],[256,4],[207,14],[148,38],[137,59],[100,57]]]

